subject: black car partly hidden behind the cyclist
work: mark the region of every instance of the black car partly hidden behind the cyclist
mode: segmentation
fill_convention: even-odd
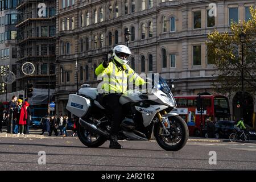
[[[229,138],[229,135],[234,133],[234,121],[218,121],[215,123],[215,136],[216,138]],[[245,133],[249,134],[250,140],[256,139],[255,130],[249,125],[245,124]]]

